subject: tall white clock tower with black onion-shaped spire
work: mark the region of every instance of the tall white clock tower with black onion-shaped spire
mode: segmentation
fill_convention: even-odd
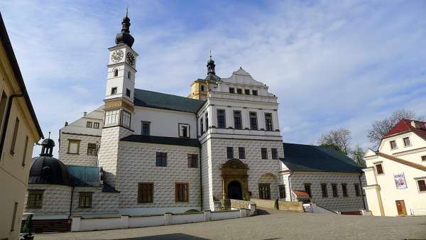
[[[104,97],[104,127],[98,154],[99,166],[104,170],[104,180],[116,186],[116,169],[119,165],[120,139],[133,134],[131,119],[134,111],[136,53],[131,47],[130,18],[121,22],[121,33],[116,35],[114,47],[109,48],[107,89]]]

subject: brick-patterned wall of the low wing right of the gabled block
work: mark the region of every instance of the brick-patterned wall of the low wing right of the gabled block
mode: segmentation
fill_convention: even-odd
[[[362,181],[361,181],[362,182]],[[364,209],[363,197],[355,195],[354,184],[359,175],[351,173],[294,173],[291,177],[293,190],[305,190],[304,183],[311,184],[312,202],[332,211],[358,211]],[[322,197],[321,184],[327,183],[328,197]],[[332,183],[337,184],[339,197],[333,197]],[[346,183],[348,197],[343,197],[342,183]],[[361,188],[362,186],[360,186]]]

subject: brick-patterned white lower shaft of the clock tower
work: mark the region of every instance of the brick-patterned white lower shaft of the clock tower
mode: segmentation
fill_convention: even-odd
[[[116,185],[119,139],[133,132],[120,126],[102,129],[101,147],[98,153],[99,166],[104,170],[104,181],[112,187]]]

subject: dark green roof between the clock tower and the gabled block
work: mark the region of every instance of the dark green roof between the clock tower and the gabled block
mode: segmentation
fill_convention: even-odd
[[[133,103],[141,107],[153,107],[156,109],[168,109],[175,111],[187,111],[194,114],[202,107],[205,101],[180,97],[161,92],[152,92],[143,89],[135,89]]]

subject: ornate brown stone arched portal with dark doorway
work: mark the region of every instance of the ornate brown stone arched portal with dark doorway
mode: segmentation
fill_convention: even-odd
[[[249,198],[247,170],[239,159],[231,159],[222,164],[222,198],[244,200]]]

